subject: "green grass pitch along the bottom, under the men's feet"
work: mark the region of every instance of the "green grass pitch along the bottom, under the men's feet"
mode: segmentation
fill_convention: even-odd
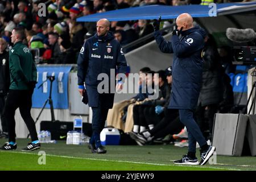
[[[0,144],[6,139],[0,139]],[[18,139],[15,151],[0,151],[0,170],[86,170],[86,171],[214,171],[214,170],[256,170],[252,156],[216,156],[216,164],[205,166],[181,166],[174,164],[186,154],[187,148],[168,145],[148,146],[106,146],[106,154],[92,154],[86,145],[67,145],[65,141],[42,144],[40,150],[22,152],[30,142]],[[46,164],[39,151],[46,154]],[[199,150],[197,158],[199,158]],[[39,163],[38,163],[39,161]]]

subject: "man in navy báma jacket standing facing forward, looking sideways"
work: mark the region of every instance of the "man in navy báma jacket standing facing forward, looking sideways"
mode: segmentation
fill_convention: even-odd
[[[77,60],[79,93],[81,96],[85,92],[87,93],[88,104],[93,111],[93,134],[88,147],[92,152],[98,154],[106,153],[105,148],[101,146],[100,133],[104,129],[108,111],[113,107],[114,102],[114,92],[110,92],[110,90],[115,88],[110,88],[112,85],[110,82],[115,81],[115,77],[110,77],[110,70],[117,70],[118,73],[126,73],[127,70],[122,47],[114,39],[113,33],[109,32],[109,28],[110,22],[108,19],[98,20],[97,33],[86,40]],[[98,80],[100,73],[105,73],[109,78],[109,84],[104,85],[104,90],[107,90],[104,93],[99,93],[97,89],[101,82],[101,80]],[[84,84],[86,87],[84,87]],[[118,82],[117,89],[122,89],[122,82]]]

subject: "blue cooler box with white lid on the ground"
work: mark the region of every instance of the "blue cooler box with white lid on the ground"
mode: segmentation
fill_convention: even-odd
[[[106,128],[101,131],[100,134],[101,144],[106,145],[118,145],[120,141],[120,133],[118,129]]]

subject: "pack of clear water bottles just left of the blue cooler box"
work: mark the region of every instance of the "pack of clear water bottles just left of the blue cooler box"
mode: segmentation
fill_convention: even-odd
[[[84,144],[89,143],[89,137],[79,131],[68,131],[67,144]]]

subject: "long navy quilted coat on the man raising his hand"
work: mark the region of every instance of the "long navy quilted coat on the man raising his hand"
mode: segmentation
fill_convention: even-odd
[[[182,31],[181,38],[174,35],[171,42],[164,40],[159,31],[154,36],[162,52],[174,53],[172,94],[168,108],[195,110],[202,81],[204,29],[193,27]]]

